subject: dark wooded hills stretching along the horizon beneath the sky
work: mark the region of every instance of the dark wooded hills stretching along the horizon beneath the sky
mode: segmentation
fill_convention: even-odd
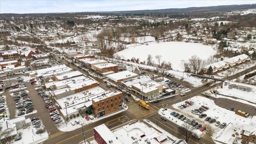
[[[159,9],[159,10],[139,10],[139,11],[107,11],[107,12],[69,12],[69,13],[30,13],[30,14],[15,14],[15,13],[3,13],[0,18],[9,17],[43,17],[47,15],[49,17],[75,17],[76,15],[141,15],[151,17],[171,17],[171,18],[193,18],[193,17],[214,17],[221,15],[225,12],[256,9],[256,4],[244,4],[244,5],[219,5],[219,6],[206,6],[206,7],[188,7],[182,9]]]

